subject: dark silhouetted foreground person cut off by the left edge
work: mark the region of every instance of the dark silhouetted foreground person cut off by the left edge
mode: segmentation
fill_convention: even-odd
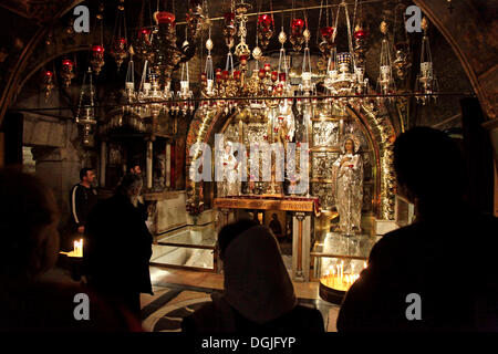
[[[37,177],[0,170],[0,331],[141,331],[139,322],[54,266],[59,257],[59,210]],[[74,312],[89,296],[89,317]]]

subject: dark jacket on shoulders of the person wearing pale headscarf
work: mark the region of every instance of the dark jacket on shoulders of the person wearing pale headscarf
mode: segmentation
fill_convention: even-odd
[[[243,317],[222,295],[214,295],[212,302],[183,320],[181,330],[187,333],[314,333],[324,332],[324,325],[319,310],[302,305],[259,324]]]

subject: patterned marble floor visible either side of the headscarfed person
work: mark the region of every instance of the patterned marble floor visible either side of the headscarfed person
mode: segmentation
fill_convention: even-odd
[[[224,275],[212,272],[151,267],[151,279],[154,295],[141,299],[143,327],[151,332],[179,332],[181,319],[224,288]],[[320,310],[325,330],[335,332],[339,306],[320,299],[318,282],[293,284],[299,303]]]

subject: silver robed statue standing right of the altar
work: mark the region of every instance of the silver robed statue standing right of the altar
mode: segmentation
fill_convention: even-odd
[[[363,162],[359,149],[360,139],[353,134],[347,134],[341,144],[342,154],[332,166],[339,228],[346,235],[361,232]]]

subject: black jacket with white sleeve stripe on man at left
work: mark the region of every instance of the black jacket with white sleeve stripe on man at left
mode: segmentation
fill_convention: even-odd
[[[71,227],[76,232],[80,226],[85,226],[90,211],[97,204],[97,192],[93,187],[86,188],[80,184],[71,188]]]

